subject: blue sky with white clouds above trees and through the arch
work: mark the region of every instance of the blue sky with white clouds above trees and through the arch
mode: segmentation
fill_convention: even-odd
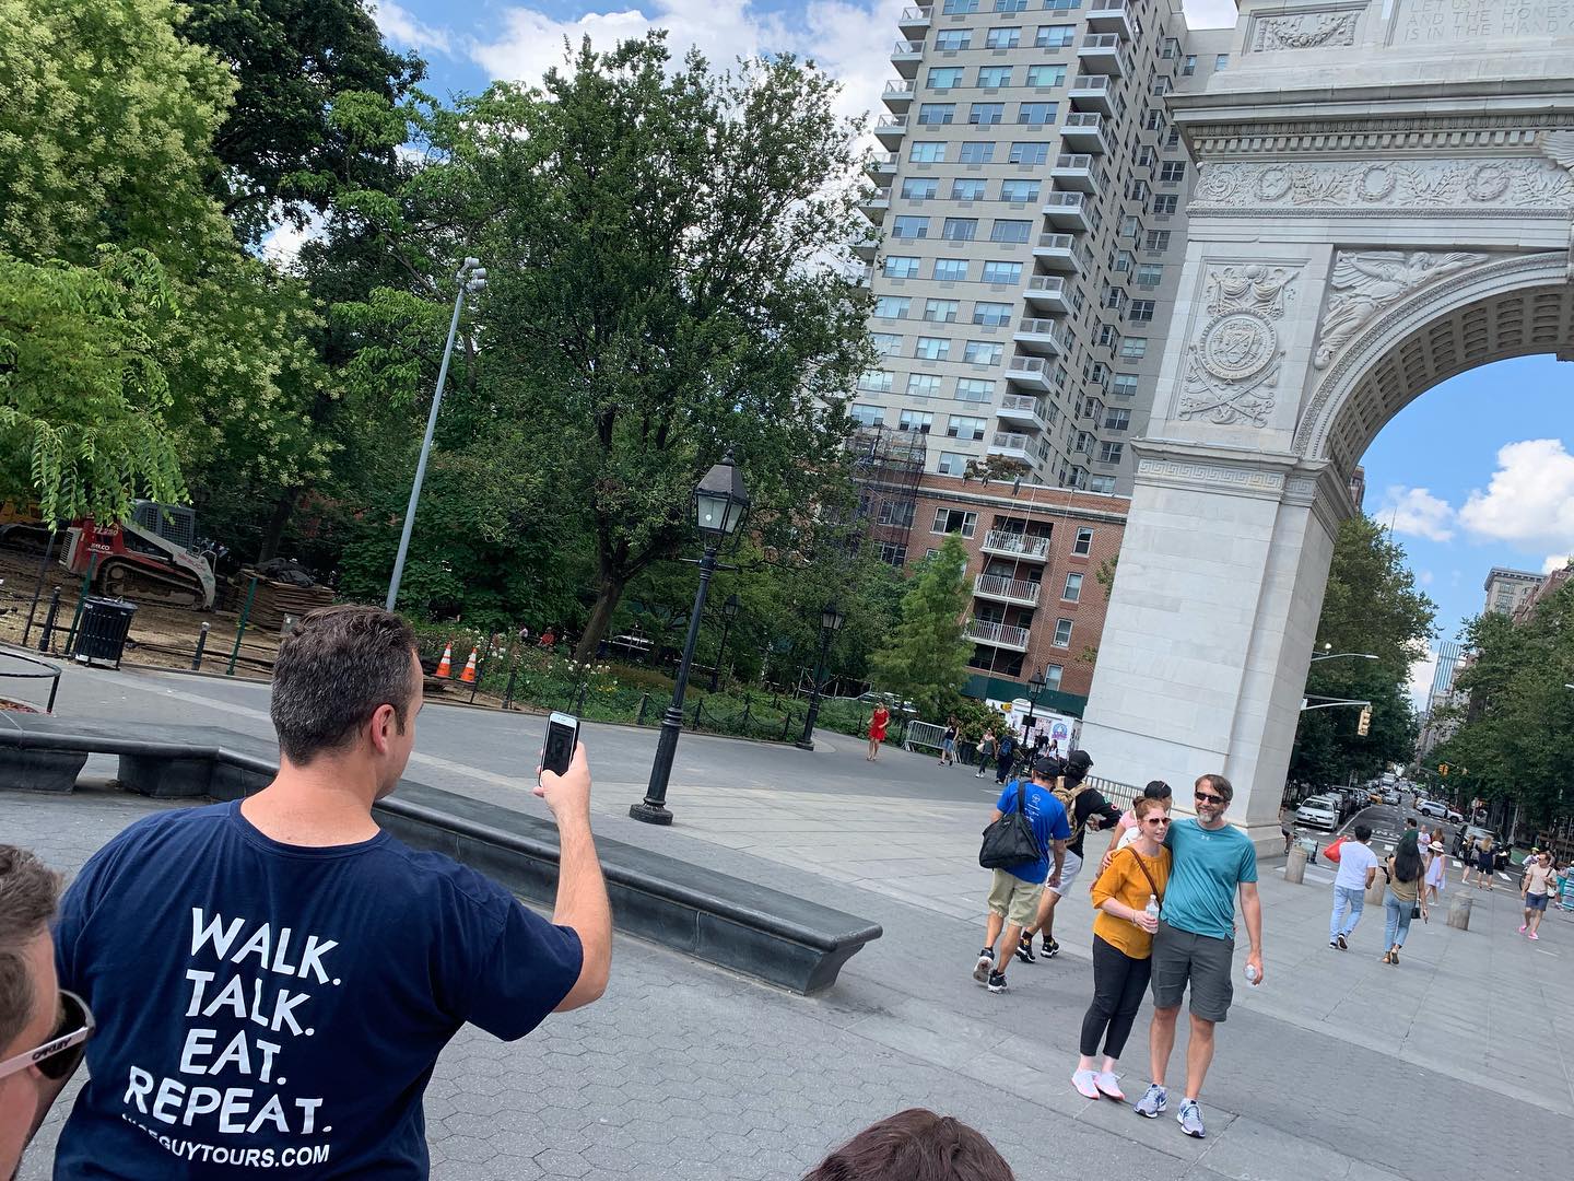
[[[563,38],[600,46],[671,30],[716,63],[792,50],[844,82],[842,110],[870,112],[891,74],[896,16],[918,0],[379,0],[376,19],[398,47],[430,63],[439,94],[494,77],[535,80],[562,60]],[[1190,0],[1193,25],[1234,24],[1232,0]],[[1574,553],[1574,368],[1522,357],[1417,398],[1365,457],[1366,512],[1391,524],[1443,638],[1481,608],[1492,565],[1543,570]],[[1413,683],[1429,682],[1417,668]]]

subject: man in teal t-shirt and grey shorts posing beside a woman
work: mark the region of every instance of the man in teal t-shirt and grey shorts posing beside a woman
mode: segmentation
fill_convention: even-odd
[[[1247,975],[1262,983],[1262,902],[1258,898],[1258,853],[1250,838],[1225,820],[1234,797],[1223,775],[1196,781],[1196,819],[1169,825],[1165,846],[1173,860],[1158,934],[1154,935],[1154,1024],[1147,1053],[1154,1082],[1138,1099],[1136,1113],[1155,1120],[1168,1105],[1165,1069],[1176,1044],[1180,997],[1192,986],[1192,1041],[1185,1053],[1185,1098],[1176,1120],[1187,1135],[1203,1138],[1198,1094],[1214,1061],[1214,1025],[1225,1020],[1234,989],[1229,968],[1236,951],[1236,891],[1247,923],[1251,954]]]

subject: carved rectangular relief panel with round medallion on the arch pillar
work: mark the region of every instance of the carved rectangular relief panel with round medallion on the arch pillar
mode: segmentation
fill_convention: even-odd
[[[1207,269],[1209,321],[1187,345],[1179,417],[1265,427],[1284,350],[1277,323],[1295,272],[1259,263]]]

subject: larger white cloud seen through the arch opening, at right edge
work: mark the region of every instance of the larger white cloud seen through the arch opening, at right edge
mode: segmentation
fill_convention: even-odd
[[[1574,455],[1561,439],[1500,447],[1486,491],[1470,493],[1459,523],[1484,540],[1543,553],[1574,550]]]

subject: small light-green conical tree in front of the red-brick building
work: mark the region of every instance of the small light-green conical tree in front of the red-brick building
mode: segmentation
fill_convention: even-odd
[[[875,653],[875,688],[911,701],[919,716],[941,718],[968,677],[971,646],[962,638],[971,590],[962,539],[946,537],[902,597],[902,622]]]

